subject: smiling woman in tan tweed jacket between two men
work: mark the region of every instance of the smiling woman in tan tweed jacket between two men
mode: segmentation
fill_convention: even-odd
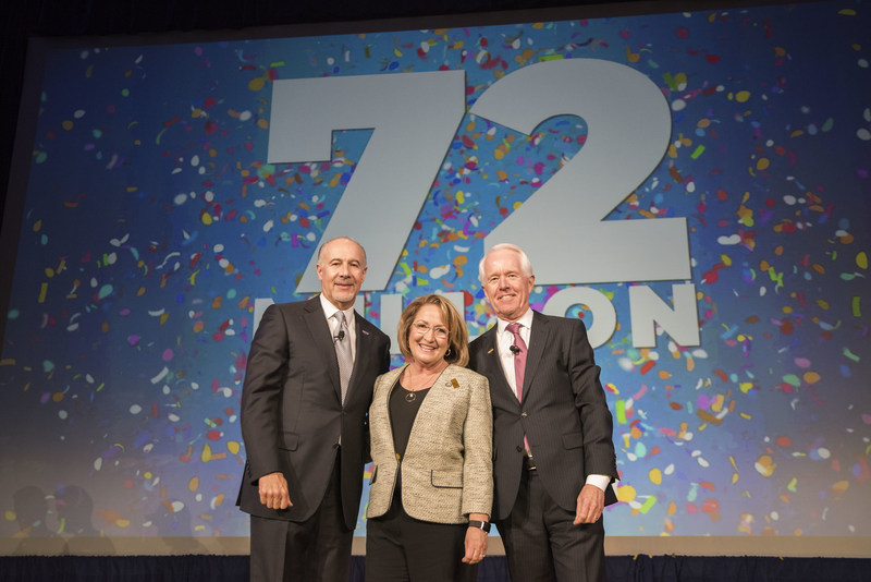
[[[398,342],[407,363],[369,408],[366,580],[474,581],[493,500],[488,381],[463,367],[466,323],[441,295],[405,308]]]

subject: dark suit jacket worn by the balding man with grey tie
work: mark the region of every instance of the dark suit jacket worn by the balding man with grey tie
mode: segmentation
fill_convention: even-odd
[[[390,339],[355,313],[356,356],[344,407],[339,362],[319,298],[270,305],[252,342],[242,388],[242,437],[247,462],[238,505],[253,516],[309,519],[320,505],[342,436],[342,506],[354,528],[368,457],[367,413],[375,379],[390,367]],[[260,502],[257,481],[281,471],[291,502]]]

